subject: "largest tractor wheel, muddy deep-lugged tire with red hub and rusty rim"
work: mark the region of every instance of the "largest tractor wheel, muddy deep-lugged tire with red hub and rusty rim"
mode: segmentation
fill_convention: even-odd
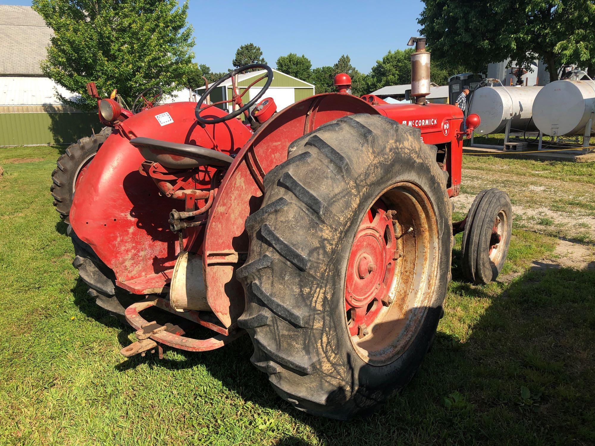
[[[352,115],[293,142],[264,183],[237,271],[251,361],[299,410],[372,412],[414,376],[441,317],[452,228],[436,147]]]

